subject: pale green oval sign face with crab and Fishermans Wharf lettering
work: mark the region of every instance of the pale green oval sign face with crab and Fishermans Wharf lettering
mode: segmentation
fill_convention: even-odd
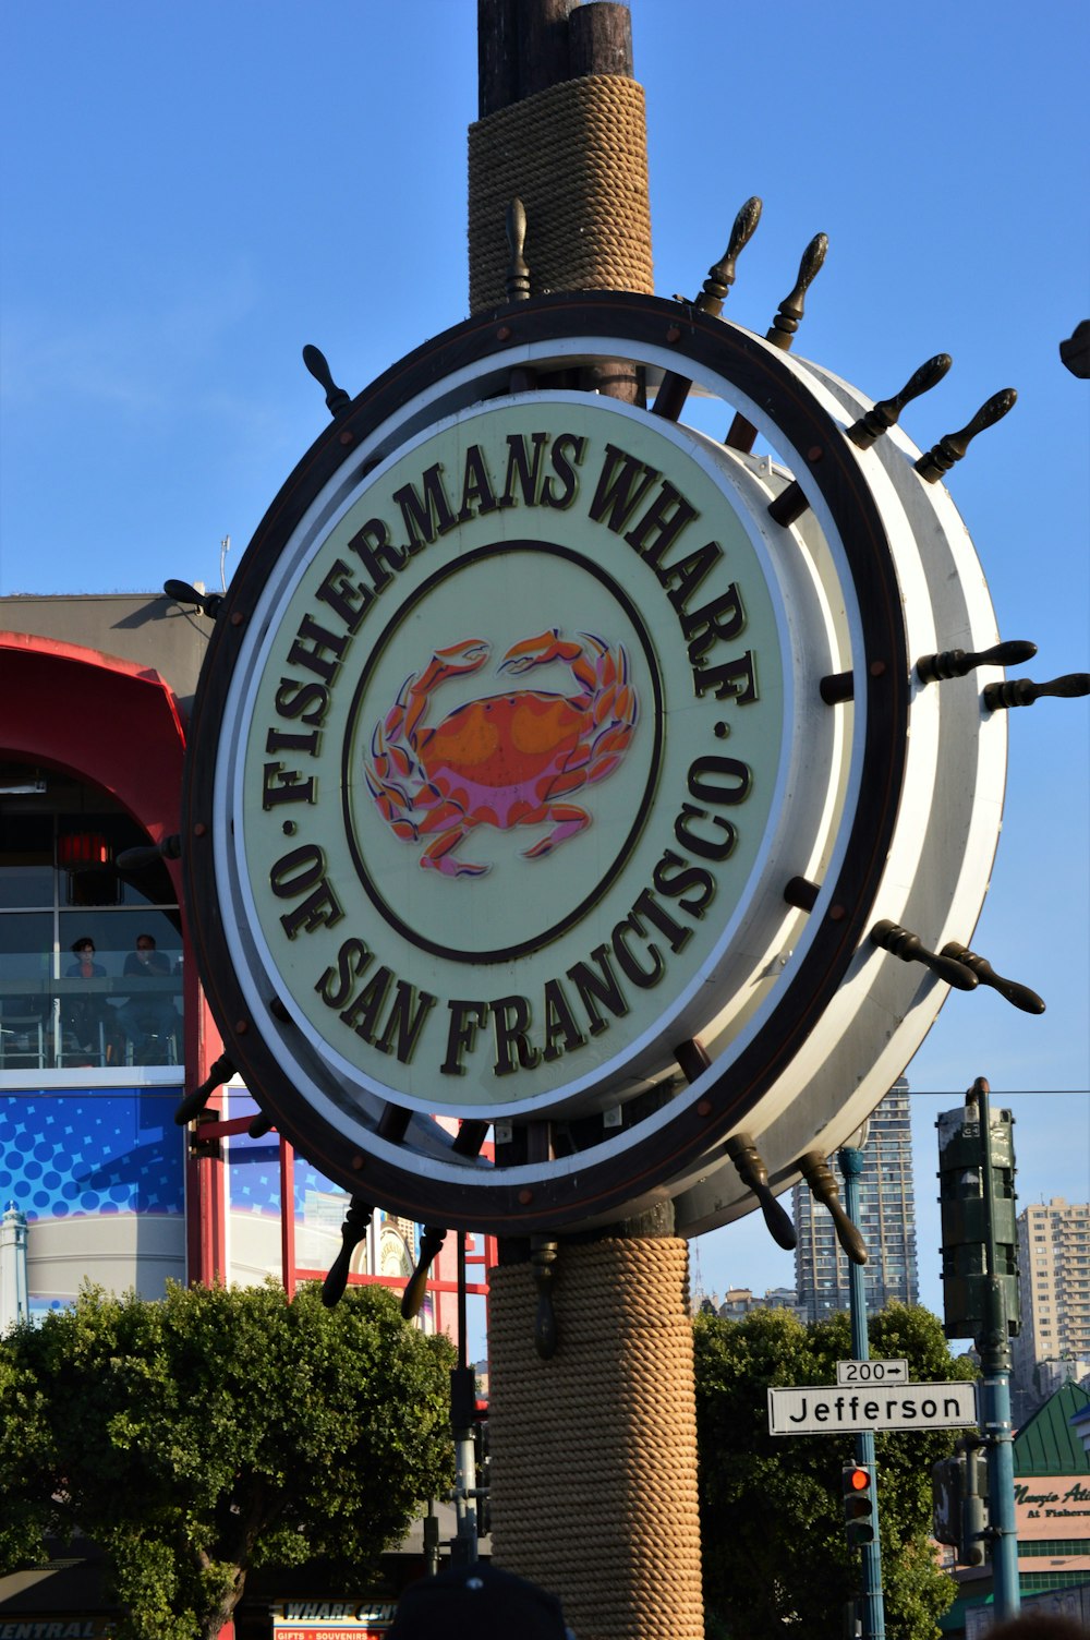
[[[364,477],[257,653],[234,848],[262,961],[423,1110],[631,1091],[723,1007],[783,761],[783,631],[715,448],[611,402],[462,412]]]

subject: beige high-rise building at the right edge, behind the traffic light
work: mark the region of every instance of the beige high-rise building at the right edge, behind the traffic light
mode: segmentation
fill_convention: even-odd
[[[1018,1294],[1015,1394],[1026,1417],[1059,1384],[1090,1371],[1090,1204],[1056,1196],[1018,1215]]]

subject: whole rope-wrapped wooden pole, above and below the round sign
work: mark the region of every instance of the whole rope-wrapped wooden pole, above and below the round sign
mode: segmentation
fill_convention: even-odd
[[[472,312],[508,300],[513,198],[531,294],[652,292],[628,7],[477,0],[477,16]],[[643,402],[631,361],[595,361],[579,382]],[[546,1358],[543,1250],[534,1266],[529,1243],[503,1243],[490,1273],[493,1558],[554,1589],[579,1640],[703,1640],[688,1243],[672,1232],[664,1200],[597,1241],[561,1240]]]

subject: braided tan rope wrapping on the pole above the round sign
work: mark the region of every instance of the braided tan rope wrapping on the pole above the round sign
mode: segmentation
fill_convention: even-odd
[[[651,292],[644,90],[585,74],[469,128],[469,307],[506,302],[505,213],[518,197],[526,261],[544,290]]]

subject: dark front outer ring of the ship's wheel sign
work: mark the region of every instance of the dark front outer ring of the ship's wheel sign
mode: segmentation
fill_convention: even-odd
[[[669,333],[669,335],[667,335]],[[857,699],[865,687],[862,782],[849,840],[828,905],[810,950],[754,1040],[733,1059],[702,1099],[687,1100],[674,1120],[636,1138],[621,1155],[595,1159],[580,1153],[572,1171],[549,1173],[528,1184],[526,1174],[505,1182],[503,1169],[485,1174],[467,1166],[466,1182],[421,1176],[413,1153],[390,1164],[336,1130],[288,1081],[275,1041],[249,1009],[223,940],[221,907],[213,874],[211,825],[216,746],[241,636],[261,590],[292,530],[315,495],[375,428],[415,395],[466,366],[497,359],[477,397],[506,392],[510,349],[520,343],[603,338],[610,353],[646,358],[669,346],[675,369],[705,366],[762,405],[798,451],[821,449],[821,461],[800,474],[808,494],[820,492],[839,531],[861,610],[864,654],[852,656]],[[505,359],[505,354],[508,358]],[[875,666],[874,663],[882,663]],[[818,679],[813,681],[815,689]],[[184,784],[185,907],[197,963],[226,1051],[280,1132],[331,1179],[390,1212],[451,1228],[520,1235],[559,1232],[616,1212],[698,1166],[702,1155],[736,1127],[782,1076],[831,1004],[874,917],[874,900],[890,850],[906,759],[910,667],[902,594],[880,508],[859,471],[854,446],[780,354],[751,333],[659,297],[626,292],[575,292],[539,297],[479,313],[377,377],[343,417],[311,444],[262,518],[243,558],[202,671],[192,717]],[[239,1030],[239,1025],[243,1027]],[[531,1191],[533,1199],[520,1200]]]

